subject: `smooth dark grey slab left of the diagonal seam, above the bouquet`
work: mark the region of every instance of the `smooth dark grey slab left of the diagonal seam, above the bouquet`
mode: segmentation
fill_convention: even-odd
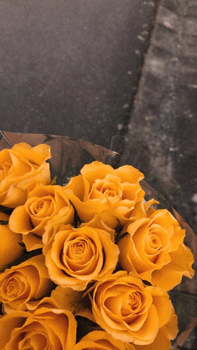
[[[154,3],[1,0],[1,128],[109,148],[128,116]]]

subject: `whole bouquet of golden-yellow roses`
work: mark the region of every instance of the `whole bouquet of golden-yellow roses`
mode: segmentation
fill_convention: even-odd
[[[170,296],[194,292],[184,221],[102,147],[9,133],[0,147],[0,350],[169,350]]]

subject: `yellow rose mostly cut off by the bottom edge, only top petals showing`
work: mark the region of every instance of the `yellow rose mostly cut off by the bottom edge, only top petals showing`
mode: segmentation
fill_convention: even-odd
[[[84,336],[75,345],[74,350],[135,350],[132,344],[123,343],[114,339],[109,333],[104,331],[93,331]]]

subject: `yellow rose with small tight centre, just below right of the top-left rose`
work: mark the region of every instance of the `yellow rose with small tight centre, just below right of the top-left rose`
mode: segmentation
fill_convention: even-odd
[[[68,224],[72,223],[73,219],[74,208],[63,187],[37,184],[28,194],[25,205],[12,212],[9,228],[22,233],[22,240],[29,251],[43,246],[42,235],[48,222]]]

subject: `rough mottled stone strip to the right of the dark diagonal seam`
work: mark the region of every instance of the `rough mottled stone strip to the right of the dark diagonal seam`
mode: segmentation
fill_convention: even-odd
[[[195,1],[160,2],[128,135],[181,186],[170,204],[195,229]]]

